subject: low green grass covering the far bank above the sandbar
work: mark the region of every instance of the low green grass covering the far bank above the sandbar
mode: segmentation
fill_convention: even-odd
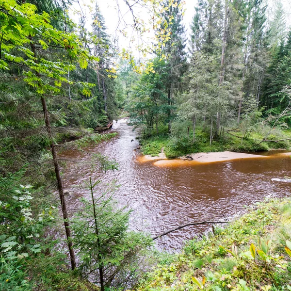
[[[161,153],[162,148],[167,158],[174,159],[183,155],[197,153],[197,152],[219,152],[219,151],[233,151],[233,152],[256,152],[268,151],[274,148],[290,147],[289,141],[279,143],[263,142],[263,135],[258,132],[252,132],[248,139],[238,138],[228,133],[216,137],[212,140],[210,146],[209,133],[205,132],[201,127],[196,129],[195,141],[192,141],[193,133],[190,132],[190,137],[181,134],[180,136],[169,135],[165,127],[159,129],[159,134],[153,133],[150,137],[142,138],[142,152],[145,155],[157,156]],[[239,133],[237,133],[238,135]],[[285,133],[290,136],[289,132]],[[275,134],[270,134],[268,139],[279,140]]]

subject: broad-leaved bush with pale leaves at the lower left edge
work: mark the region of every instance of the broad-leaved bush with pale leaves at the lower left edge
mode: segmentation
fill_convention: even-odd
[[[18,184],[22,175],[0,179],[1,290],[31,290],[27,265],[44,249],[45,226],[54,221],[54,207],[32,208],[32,186]]]

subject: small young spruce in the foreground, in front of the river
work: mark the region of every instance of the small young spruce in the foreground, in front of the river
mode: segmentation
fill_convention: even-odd
[[[72,220],[73,242],[80,258],[79,272],[101,289],[120,286],[138,268],[139,256],[151,244],[143,233],[129,231],[129,214],[118,208],[112,191],[96,197],[100,181],[87,185],[92,201],[82,199],[83,209]]]

